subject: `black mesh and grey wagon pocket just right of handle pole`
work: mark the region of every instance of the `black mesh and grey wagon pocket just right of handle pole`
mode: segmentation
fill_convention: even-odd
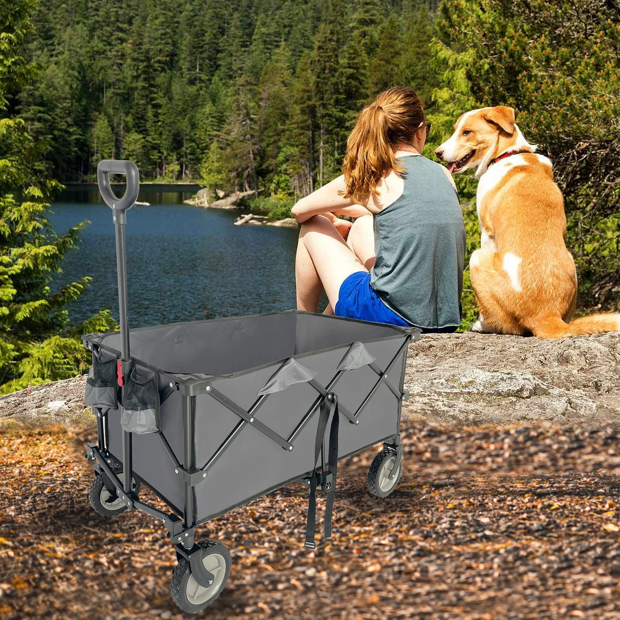
[[[128,433],[158,433],[161,430],[161,416],[157,374],[144,380],[140,375],[138,366],[134,366],[130,376],[125,378],[125,401],[120,423]]]

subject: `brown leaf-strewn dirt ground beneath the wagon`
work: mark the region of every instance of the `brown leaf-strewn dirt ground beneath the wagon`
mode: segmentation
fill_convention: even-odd
[[[403,432],[390,497],[366,492],[378,448],[339,466],[334,536],[314,552],[301,485],[199,528],[228,546],[232,573],[193,617],[620,618],[620,425],[410,417]],[[161,524],[91,509],[93,439],[66,426],[0,433],[0,618],[191,618],[169,595],[175,557]]]

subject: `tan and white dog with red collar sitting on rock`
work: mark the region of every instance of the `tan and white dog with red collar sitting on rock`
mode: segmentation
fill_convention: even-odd
[[[577,275],[566,249],[564,197],[551,161],[535,154],[503,105],[463,114],[436,149],[458,173],[476,167],[480,249],[471,281],[480,310],[478,332],[563,338],[620,330],[620,314],[571,321]]]

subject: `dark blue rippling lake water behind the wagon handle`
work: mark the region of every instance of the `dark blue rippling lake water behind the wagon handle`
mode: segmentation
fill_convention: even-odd
[[[233,226],[241,211],[183,204],[198,187],[142,185],[127,212],[130,327],[242,316],[295,306],[294,255],[298,231]],[[115,190],[119,195],[122,189]],[[79,249],[66,254],[55,286],[89,275],[91,286],[69,307],[72,321],[102,309],[118,320],[112,210],[96,186],[65,190],[52,205],[58,234],[84,219]]]

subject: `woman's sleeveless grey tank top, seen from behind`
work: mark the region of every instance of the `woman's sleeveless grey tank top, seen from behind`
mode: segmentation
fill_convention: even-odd
[[[422,329],[461,323],[465,226],[458,195],[440,164],[401,157],[403,191],[374,215],[370,285],[405,321]]]

